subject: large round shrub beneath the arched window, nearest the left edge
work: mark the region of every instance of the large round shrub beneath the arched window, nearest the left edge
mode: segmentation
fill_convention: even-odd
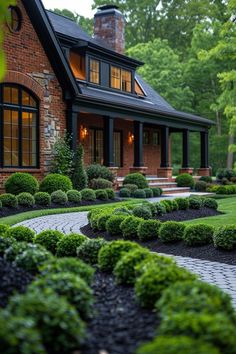
[[[39,184],[37,179],[29,173],[13,173],[5,182],[6,192],[15,195],[23,192],[34,194],[38,189]]]

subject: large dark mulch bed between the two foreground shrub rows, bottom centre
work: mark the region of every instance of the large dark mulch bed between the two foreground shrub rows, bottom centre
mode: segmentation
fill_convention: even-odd
[[[96,312],[82,354],[134,354],[155,337],[157,315],[136,303],[132,287],[116,285],[113,276],[97,271],[93,290]]]

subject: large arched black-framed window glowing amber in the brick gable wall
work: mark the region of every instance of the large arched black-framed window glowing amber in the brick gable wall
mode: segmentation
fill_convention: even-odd
[[[37,167],[38,104],[19,86],[0,85],[2,167]]]

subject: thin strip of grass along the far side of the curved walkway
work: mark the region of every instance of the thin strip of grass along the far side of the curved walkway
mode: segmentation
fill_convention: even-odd
[[[42,209],[42,210],[32,210],[26,211],[24,213],[6,216],[5,218],[0,218],[0,224],[7,224],[7,225],[15,225],[19,222],[34,219],[40,216],[46,215],[55,215],[55,214],[65,214],[65,213],[76,213],[81,211],[89,211],[94,208],[106,208],[112,206],[125,206],[130,204],[136,204],[137,199],[130,199],[128,201],[118,202],[118,203],[106,203],[106,204],[97,204],[97,205],[90,205],[90,206],[83,206],[83,207],[74,207],[74,208],[58,208],[58,209]]]

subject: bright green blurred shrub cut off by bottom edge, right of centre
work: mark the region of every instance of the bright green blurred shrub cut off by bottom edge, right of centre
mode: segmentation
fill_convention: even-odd
[[[212,345],[187,336],[158,336],[142,345],[137,354],[220,354]]]

